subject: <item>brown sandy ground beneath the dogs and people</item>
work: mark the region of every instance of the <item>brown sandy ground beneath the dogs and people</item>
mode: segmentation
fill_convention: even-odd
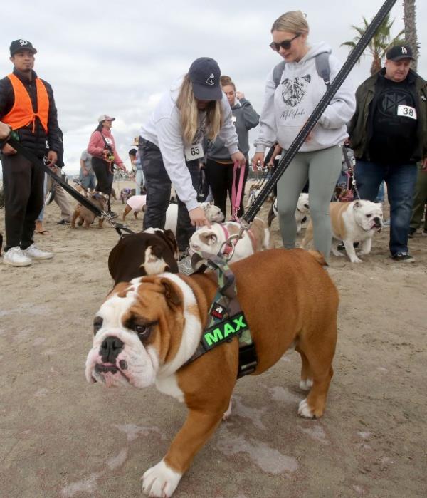
[[[115,185],[125,186],[132,184]],[[120,216],[124,207],[112,204]],[[50,233],[36,235],[52,261],[0,264],[0,496],[142,496],[139,478],[162,459],[186,409],[154,388],[86,383],[93,317],[112,287],[107,257],[118,237],[107,223],[71,229],[58,219],[53,203]],[[129,214],[127,224],[142,229],[142,214]],[[272,233],[279,247],[277,219]],[[325,417],[297,416],[300,359],[285,355],[262,376],[238,381],[233,415],[175,497],[426,496],[427,237],[410,239],[413,264],[392,261],[388,244],[383,229],[362,264],[331,256],[341,301]]]

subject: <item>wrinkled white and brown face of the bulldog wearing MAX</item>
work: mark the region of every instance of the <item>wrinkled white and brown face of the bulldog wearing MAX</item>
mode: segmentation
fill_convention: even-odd
[[[139,280],[116,286],[97,312],[93,347],[86,360],[89,383],[137,388],[154,383],[159,369],[159,353],[153,347],[159,310],[139,299]]]

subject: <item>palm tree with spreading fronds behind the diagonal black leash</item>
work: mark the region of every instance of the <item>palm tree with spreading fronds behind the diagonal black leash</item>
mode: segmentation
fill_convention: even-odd
[[[357,45],[357,42],[362,38],[362,35],[365,31],[367,31],[367,27],[369,26],[369,22],[366,17],[363,18],[364,26],[354,26],[352,28],[357,31],[357,36],[353,38],[352,41],[346,41],[341,44],[341,46],[349,46],[354,48]],[[387,14],[384,21],[381,23],[379,28],[376,30],[374,37],[371,38],[369,44],[365,51],[369,53],[369,55],[373,58],[371,63],[371,75],[377,73],[382,67],[382,60],[386,56],[386,51],[390,46],[399,45],[399,43],[403,43],[404,39],[401,38],[404,30],[398,33],[394,38],[391,37],[391,27],[394,24],[393,21],[390,21],[390,14]]]

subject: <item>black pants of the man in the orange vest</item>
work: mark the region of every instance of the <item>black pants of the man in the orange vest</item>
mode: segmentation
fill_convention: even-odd
[[[7,251],[33,244],[36,219],[43,207],[44,172],[19,154],[2,155],[4,224]]]

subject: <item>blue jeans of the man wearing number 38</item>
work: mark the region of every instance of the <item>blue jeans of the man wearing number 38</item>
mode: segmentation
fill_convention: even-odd
[[[356,162],[356,183],[360,198],[374,202],[382,180],[387,185],[390,204],[390,252],[408,252],[408,230],[411,220],[416,165],[388,166],[376,162]]]

